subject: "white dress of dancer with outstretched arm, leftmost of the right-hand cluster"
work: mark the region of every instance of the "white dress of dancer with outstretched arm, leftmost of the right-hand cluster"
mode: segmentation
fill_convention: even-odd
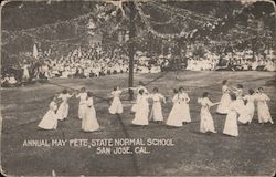
[[[211,106],[213,106],[213,103],[208,98],[199,98],[198,102],[201,104],[201,111],[200,111],[200,132],[206,133],[206,132],[215,132],[214,128],[214,121],[213,117],[209,111]]]

